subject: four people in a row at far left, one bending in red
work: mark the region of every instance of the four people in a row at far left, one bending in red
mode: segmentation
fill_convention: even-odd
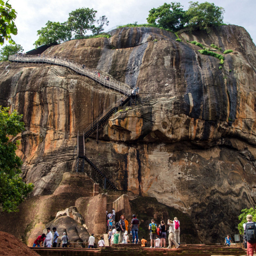
[[[33,247],[57,247],[57,240],[59,234],[57,229],[52,228],[53,234],[50,228],[46,229],[47,234],[42,234],[41,236],[37,236],[37,239],[34,241]],[[62,247],[67,247],[69,245],[69,238],[66,232],[63,232],[63,236],[61,237]]]

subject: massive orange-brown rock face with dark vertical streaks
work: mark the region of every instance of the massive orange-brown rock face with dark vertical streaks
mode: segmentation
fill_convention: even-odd
[[[139,86],[143,104],[115,113],[98,143],[87,139],[86,155],[120,190],[186,213],[200,240],[215,243],[237,233],[241,209],[256,203],[256,47],[233,25],[178,36],[119,28],[109,39],[72,40],[44,54]],[[190,41],[233,52],[220,65]],[[0,74],[0,104],[24,115],[17,153],[24,180],[35,184],[29,200],[51,195],[75,169],[77,132],[121,95],[48,64],[2,63]]]

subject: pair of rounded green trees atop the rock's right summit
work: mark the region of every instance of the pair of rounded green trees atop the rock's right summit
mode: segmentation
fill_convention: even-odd
[[[184,11],[179,2],[164,3],[158,8],[149,11],[148,23],[160,28],[177,31],[187,26],[189,28],[209,30],[210,26],[219,26],[223,22],[222,7],[204,2],[189,2],[190,6]]]

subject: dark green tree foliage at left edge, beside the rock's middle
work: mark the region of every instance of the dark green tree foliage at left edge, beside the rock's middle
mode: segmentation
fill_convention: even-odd
[[[21,119],[17,111],[9,113],[9,108],[0,106],[0,212],[17,211],[18,205],[33,190],[33,184],[24,183],[20,177],[22,161],[15,154],[18,142],[8,137],[24,130]]]

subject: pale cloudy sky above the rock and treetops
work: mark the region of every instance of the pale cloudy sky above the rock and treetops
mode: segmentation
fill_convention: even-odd
[[[134,22],[143,24],[147,23],[146,18],[150,9],[157,8],[164,2],[180,2],[183,9],[187,10],[190,0],[9,0],[9,4],[17,12],[15,24],[18,35],[13,36],[13,39],[24,48],[25,52],[32,50],[33,43],[38,39],[37,30],[45,26],[48,20],[65,22],[69,12],[82,7],[98,11],[97,17],[106,15],[109,20],[106,30]],[[198,0],[198,2],[206,1]],[[244,27],[256,43],[256,0],[208,0],[208,2],[223,7],[224,23]]]

